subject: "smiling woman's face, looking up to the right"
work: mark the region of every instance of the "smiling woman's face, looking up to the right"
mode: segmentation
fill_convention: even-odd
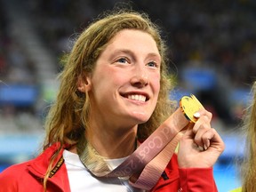
[[[148,121],[160,90],[160,63],[152,36],[133,29],[118,32],[88,80],[92,118],[111,126]]]

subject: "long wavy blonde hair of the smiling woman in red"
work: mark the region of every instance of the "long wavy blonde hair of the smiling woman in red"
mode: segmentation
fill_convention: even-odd
[[[148,18],[144,12],[119,9],[105,12],[94,20],[76,39],[72,51],[67,55],[64,68],[60,73],[60,90],[55,103],[46,117],[44,149],[53,143],[60,142],[60,149],[64,144],[76,144],[86,129],[90,116],[90,100],[86,93],[77,90],[77,81],[85,74],[93,73],[96,60],[106,48],[111,38],[123,29],[137,29],[148,33],[156,41],[162,57],[160,92],[156,109],[145,124],[139,124],[138,139],[145,140],[172,113],[170,108],[169,91],[171,89],[168,75],[167,47],[161,38],[160,29]],[[44,189],[52,169],[52,162],[60,150],[52,156],[48,171],[44,177]]]

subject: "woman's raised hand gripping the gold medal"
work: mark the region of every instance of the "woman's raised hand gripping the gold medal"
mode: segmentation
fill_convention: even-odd
[[[190,123],[180,140],[178,163],[180,168],[206,168],[216,163],[225,148],[220,135],[211,126],[212,113],[200,109],[196,124]],[[194,126],[193,126],[194,125]]]

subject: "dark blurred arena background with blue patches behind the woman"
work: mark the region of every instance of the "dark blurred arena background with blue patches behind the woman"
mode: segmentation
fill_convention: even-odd
[[[60,58],[100,12],[117,2],[148,12],[163,28],[175,74],[172,100],[193,93],[226,143],[217,186],[240,186],[241,117],[256,75],[256,1],[0,0],[0,172],[36,156],[44,116],[58,90]]]

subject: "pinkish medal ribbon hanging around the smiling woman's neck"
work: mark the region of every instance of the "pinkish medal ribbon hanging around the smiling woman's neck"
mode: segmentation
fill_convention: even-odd
[[[181,106],[181,102],[180,107],[116,169],[111,171],[108,168],[104,158],[85,137],[77,143],[80,160],[97,177],[129,178],[133,187],[150,190],[164,172],[183,132],[188,128],[190,121],[188,115],[184,116],[186,109]]]

